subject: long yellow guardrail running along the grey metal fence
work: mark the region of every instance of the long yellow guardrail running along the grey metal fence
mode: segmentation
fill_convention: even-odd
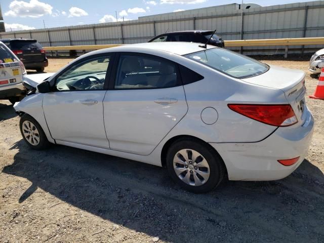
[[[262,46],[299,46],[299,45],[324,45],[324,37],[308,38],[282,38],[282,39],[243,39],[224,41],[225,47],[262,47]],[[99,50],[104,48],[118,47],[121,45],[85,45],[85,46],[61,46],[44,47],[47,51],[61,50]]]

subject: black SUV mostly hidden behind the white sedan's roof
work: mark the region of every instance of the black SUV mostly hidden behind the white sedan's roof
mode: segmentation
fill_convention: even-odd
[[[195,42],[206,44],[214,31],[211,30],[186,30],[168,32],[157,35],[148,42]],[[224,48],[224,41],[217,34],[214,34],[208,43],[216,47]]]

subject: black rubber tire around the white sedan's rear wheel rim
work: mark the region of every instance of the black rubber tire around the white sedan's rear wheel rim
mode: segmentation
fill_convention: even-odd
[[[180,150],[192,149],[200,153],[209,165],[210,176],[203,185],[193,186],[183,182],[176,174],[173,159]],[[167,168],[172,179],[185,190],[194,193],[205,193],[215,189],[225,176],[225,167],[220,155],[208,144],[197,139],[184,138],[175,141],[167,152]],[[195,173],[194,170],[192,170]],[[189,171],[187,172],[189,173]]]

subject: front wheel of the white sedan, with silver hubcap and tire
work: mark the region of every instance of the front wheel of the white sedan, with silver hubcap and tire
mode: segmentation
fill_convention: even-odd
[[[20,132],[32,149],[42,150],[49,146],[50,142],[48,141],[41,125],[30,115],[24,114],[20,118]]]

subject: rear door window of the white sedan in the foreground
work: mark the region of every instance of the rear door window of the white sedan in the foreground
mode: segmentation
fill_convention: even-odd
[[[180,85],[177,64],[157,57],[121,55],[115,89],[156,89]]]

